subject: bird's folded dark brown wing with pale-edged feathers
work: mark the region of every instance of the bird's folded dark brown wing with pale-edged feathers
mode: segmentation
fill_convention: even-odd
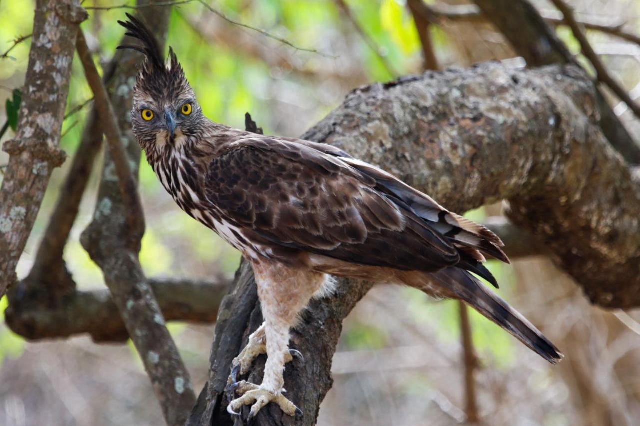
[[[349,262],[434,271],[458,250],[377,183],[306,144],[247,138],[214,159],[207,198],[274,244]]]

